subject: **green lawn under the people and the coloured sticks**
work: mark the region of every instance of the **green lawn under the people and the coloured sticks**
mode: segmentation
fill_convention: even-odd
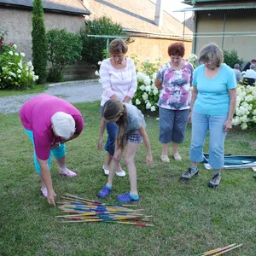
[[[79,176],[60,177],[53,161],[52,179],[61,201],[65,193],[98,200],[106,183],[97,151],[99,102],[76,104],[84,116],[84,131],[67,143],[67,164]],[[32,162],[32,145],[17,114],[0,114],[0,254],[1,255],[194,255],[231,243],[244,245],[226,255],[256,253],[256,189],[250,169],[223,172],[221,185],[210,189],[211,171],[200,167],[199,177],[179,181],[189,166],[190,126],[180,147],[182,162],[160,162],[158,121],[146,118],[154,164],[145,166],[144,146],[137,153],[137,180],[142,200],[137,204],[153,215],[154,228],[122,224],[61,224],[61,211],[49,207],[39,193]],[[254,132],[254,133],[253,133]],[[206,152],[207,144],[206,144]],[[228,154],[255,154],[255,131],[231,131]],[[122,161],[122,166],[124,163]],[[113,193],[104,202],[129,189],[128,177],[114,180]]]

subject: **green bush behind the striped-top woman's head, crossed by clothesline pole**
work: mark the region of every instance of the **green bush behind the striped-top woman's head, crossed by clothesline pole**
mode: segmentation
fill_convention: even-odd
[[[80,30],[83,41],[83,59],[98,68],[98,61],[106,56],[107,38],[90,38],[88,35],[125,36],[122,26],[114,23],[110,18],[103,16],[96,20],[89,20]],[[109,38],[111,42],[114,38]],[[104,51],[105,49],[105,51]]]

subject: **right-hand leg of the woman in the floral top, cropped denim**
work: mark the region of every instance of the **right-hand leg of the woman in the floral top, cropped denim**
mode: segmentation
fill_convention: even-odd
[[[174,160],[182,160],[182,157],[178,153],[178,146],[184,141],[188,116],[189,109],[175,111],[172,131],[172,155]]]

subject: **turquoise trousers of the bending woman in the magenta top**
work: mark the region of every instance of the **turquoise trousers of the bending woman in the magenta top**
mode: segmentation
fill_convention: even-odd
[[[38,159],[37,159],[37,155],[36,155],[36,151],[35,151],[35,143],[34,143],[33,132],[30,131],[30,130],[26,130],[25,128],[24,128],[24,130],[26,131],[26,134],[28,135],[28,137],[32,141],[32,144],[33,144],[33,147],[34,147],[34,165],[36,167],[36,172],[38,174],[41,174],[40,165],[38,163]],[[66,154],[65,143],[61,144],[60,147],[57,147],[57,148],[54,148],[54,149],[50,150],[49,158],[48,158],[49,170],[50,170],[50,167],[51,167],[51,153],[54,154],[55,159],[59,159],[59,158],[62,158],[63,156],[65,156],[65,154]]]

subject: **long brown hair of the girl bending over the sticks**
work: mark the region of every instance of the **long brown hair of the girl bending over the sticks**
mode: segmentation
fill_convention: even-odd
[[[119,118],[116,121],[116,124],[119,125],[119,132],[116,137],[116,145],[117,148],[124,149],[124,137],[127,124],[127,108],[125,104],[119,100],[109,100],[103,106],[102,116],[104,119],[110,122]]]

